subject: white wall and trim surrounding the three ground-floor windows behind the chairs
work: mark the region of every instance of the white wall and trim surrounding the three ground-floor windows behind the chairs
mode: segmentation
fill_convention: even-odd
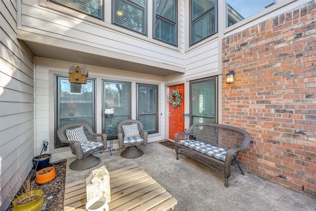
[[[54,75],[65,75],[68,76],[69,66],[72,63],[63,61],[36,58],[36,146],[37,154],[40,154],[42,148],[42,142],[47,140],[49,142],[48,152],[52,154],[51,161],[65,159],[72,154],[65,154],[65,150],[70,151],[68,148],[57,148],[54,149]],[[83,64],[82,64],[83,65]],[[132,100],[132,118],[136,118],[136,83],[144,84],[158,84],[158,95],[159,95],[159,132],[156,134],[149,135],[149,142],[158,141],[164,139],[164,121],[165,121],[165,84],[164,78],[146,74],[136,74],[126,72],[122,70],[107,69],[95,66],[86,66],[89,69],[89,78],[96,79],[96,114],[102,113],[102,79],[114,80],[121,82],[131,83],[131,100]],[[38,87],[38,84],[42,84],[44,87]],[[160,114],[163,115],[160,115]],[[97,124],[96,132],[102,132],[102,119],[101,115],[96,115]],[[114,140],[114,148],[118,148],[118,141]]]

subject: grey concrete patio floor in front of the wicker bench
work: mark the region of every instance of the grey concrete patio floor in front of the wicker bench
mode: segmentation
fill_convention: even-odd
[[[124,149],[94,154],[101,159],[96,167],[69,169],[76,158],[67,160],[66,184],[86,178],[91,170],[106,166],[109,171],[138,165],[164,187],[178,204],[175,211],[316,211],[316,198],[284,188],[232,167],[228,187],[224,178],[209,167],[179,155],[158,142],[139,147],[144,155],[135,159],[120,156]]]

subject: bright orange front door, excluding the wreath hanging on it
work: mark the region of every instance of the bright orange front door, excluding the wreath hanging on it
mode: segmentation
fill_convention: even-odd
[[[182,105],[174,108],[169,102],[169,138],[174,140],[174,135],[177,132],[184,131],[184,117],[182,114],[184,113],[184,84],[169,86],[168,90],[168,101],[169,96],[172,90],[178,89],[179,93],[183,97],[181,100]]]

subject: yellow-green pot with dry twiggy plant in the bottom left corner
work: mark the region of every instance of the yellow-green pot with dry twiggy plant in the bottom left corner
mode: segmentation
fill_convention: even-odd
[[[12,198],[12,205],[14,206],[13,211],[40,211],[44,203],[42,190],[33,190],[34,181],[31,181],[31,177],[27,176],[25,182],[22,181],[21,176],[19,176],[22,183],[22,194],[18,195],[15,193],[8,181],[8,185],[11,191],[14,193],[16,198],[8,195]]]

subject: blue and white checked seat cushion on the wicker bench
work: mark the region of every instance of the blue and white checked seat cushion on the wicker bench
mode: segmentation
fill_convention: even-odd
[[[196,140],[182,140],[180,144],[190,149],[194,149],[197,152],[205,154],[207,156],[216,158],[217,160],[224,161],[227,154],[227,149],[213,146],[210,144],[205,144],[204,142],[196,141]]]

